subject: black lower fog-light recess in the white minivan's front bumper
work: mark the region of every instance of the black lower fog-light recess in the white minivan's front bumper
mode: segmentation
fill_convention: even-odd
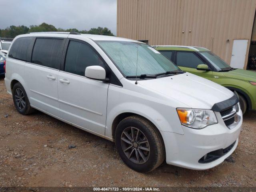
[[[198,160],[198,163],[210,163],[213,162],[214,160],[224,156],[225,154],[227,154],[236,144],[236,142],[232,143],[230,146],[228,146],[227,148],[224,149],[218,149],[215,151],[212,151],[208,154],[205,154],[204,156],[202,156],[202,158],[200,158],[200,160]]]

